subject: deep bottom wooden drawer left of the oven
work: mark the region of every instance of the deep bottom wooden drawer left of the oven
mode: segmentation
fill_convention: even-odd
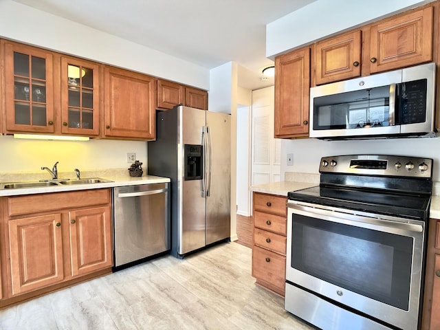
[[[254,245],[252,249],[252,276],[270,283],[276,291],[284,292],[286,258]]]

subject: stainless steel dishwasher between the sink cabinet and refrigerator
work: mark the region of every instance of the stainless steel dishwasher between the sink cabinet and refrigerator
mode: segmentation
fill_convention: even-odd
[[[113,271],[142,263],[170,250],[168,185],[113,188]]]

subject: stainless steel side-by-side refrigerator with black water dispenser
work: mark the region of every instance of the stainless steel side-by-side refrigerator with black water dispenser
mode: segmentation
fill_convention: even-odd
[[[171,179],[171,254],[230,239],[230,115],[157,111],[148,175]]]

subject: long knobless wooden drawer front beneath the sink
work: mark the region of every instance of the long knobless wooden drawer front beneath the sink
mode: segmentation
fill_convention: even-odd
[[[47,194],[22,195],[8,198],[10,217],[63,208],[75,208],[111,203],[110,189],[91,189]]]

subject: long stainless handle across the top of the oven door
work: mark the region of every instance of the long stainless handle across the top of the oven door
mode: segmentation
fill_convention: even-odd
[[[397,217],[388,217],[389,220],[380,219],[378,217],[369,217],[366,214],[349,213],[350,210],[346,210],[347,212],[339,212],[334,208],[327,208],[326,206],[314,205],[313,207],[311,207],[303,205],[301,203],[292,202],[287,203],[287,208],[291,208],[294,214],[300,214],[306,217],[313,217],[314,215],[316,215],[316,217],[319,217],[320,219],[325,219],[327,221],[343,223],[347,225],[355,225],[357,227],[359,227],[360,223],[362,223],[363,228],[382,230],[392,228],[394,230],[404,230],[406,232],[423,232],[422,225],[419,225],[417,223],[408,223],[407,220]],[[386,218],[386,216],[384,216],[384,218]],[[392,219],[394,219],[394,221]]]

